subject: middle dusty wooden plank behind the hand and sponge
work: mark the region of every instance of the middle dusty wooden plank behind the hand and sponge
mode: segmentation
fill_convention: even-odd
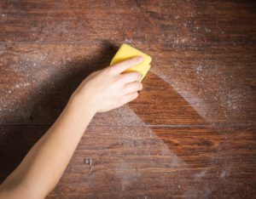
[[[79,82],[108,65],[116,46],[6,44],[0,55],[1,123],[54,122]],[[129,105],[147,124],[255,122],[254,46],[136,46],[154,58],[154,73],[149,72],[140,97]],[[110,116],[97,118],[103,123]]]

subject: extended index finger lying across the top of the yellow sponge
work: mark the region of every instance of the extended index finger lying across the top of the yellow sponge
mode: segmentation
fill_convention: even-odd
[[[131,68],[134,65],[138,65],[142,61],[143,61],[143,57],[136,56],[129,60],[121,61],[118,64],[112,65],[111,67],[113,67],[113,71],[115,71],[117,74],[119,74],[123,71],[126,71],[127,69]]]

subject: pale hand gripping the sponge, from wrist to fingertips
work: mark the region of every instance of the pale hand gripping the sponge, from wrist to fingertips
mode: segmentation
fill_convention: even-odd
[[[143,88],[143,84],[137,82],[142,78],[139,72],[122,72],[142,61],[143,57],[137,56],[91,73],[75,90],[73,97],[82,99],[95,112],[110,111],[125,105],[138,97],[137,91]]]

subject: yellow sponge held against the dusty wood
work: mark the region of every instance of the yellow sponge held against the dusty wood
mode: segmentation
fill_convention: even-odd
[[[140,82],[142,82],[143,78],[146,76],[148,70],[150,69],[149,64],[152,59],[148,54],[144,54],[142,51],[138,50],[137,48],[133,48],[126,43],[122,44],[118,52],[113,56],[113,59],[111,60],[110,65],[114,65],[116,63],[119,63],[120,61],[130,59],[134,56],[142,56],[144,60],[140,64],[132,66],[125,72],[138,71],[142,73],[143,77],[140,80]]]

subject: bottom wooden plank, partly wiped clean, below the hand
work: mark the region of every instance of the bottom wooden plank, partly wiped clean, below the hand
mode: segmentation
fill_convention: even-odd
[[[116,113],[118,117],[118,112]],[[123,114],[132,114],[124,108]],[[148,128],[93,125],[86,130],[55,197],[239,197],[255,194],[255,128]],[[1,127],[1,180],[48,127]],[[93,162],[92,172],[84,159]]]

